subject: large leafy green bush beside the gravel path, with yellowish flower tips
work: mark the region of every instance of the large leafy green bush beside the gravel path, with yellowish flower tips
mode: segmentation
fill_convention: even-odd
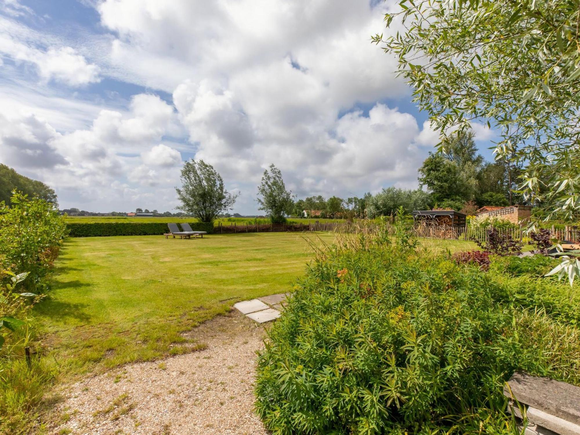
[[[570,369],[580,369],[577,329],[560,336],[575,346],[560,360],[538,348],[549,343],[519,338],[513,325],[528,311],[506,303],[510,286],[527,290],[427,252],[332,249],[270,329],[260,416],[274,434],[510,432],[502,386],[514,371],[578,382]]]

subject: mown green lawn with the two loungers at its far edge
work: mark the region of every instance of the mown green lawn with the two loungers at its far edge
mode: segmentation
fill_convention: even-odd
[[[289,291],[312,255],[296,233],[69,238],[35,315],[66,372],[150,360],[189,350],[180,332],[239,300]]]

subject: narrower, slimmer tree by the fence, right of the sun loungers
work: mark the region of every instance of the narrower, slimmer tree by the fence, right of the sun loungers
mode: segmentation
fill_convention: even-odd
[[[266,212],[272,223],[285,222],[286,215],[292,212],[292,191],[286,190],[282,173],[274,164],[266,169],[262,175],[262,183],[258,186],[260,210]]]

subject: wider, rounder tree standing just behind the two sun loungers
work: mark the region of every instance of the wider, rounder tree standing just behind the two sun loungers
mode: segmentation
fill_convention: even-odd
[[[175,188],[182,203],[177,208],[201,222],[213,222],[220,213],[231,210],[238,196],[225,189],[222,176],[203,160],[185,162],[181,182],[181,189]]]

